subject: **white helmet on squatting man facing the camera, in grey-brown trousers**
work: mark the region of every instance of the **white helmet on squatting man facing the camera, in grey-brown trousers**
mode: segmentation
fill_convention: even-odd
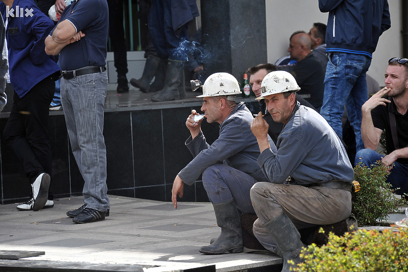
[[[295,78],[287,71],[273,71],[265,76],[261,84],[261,96],[257,100],[265,98],[267,95],[300,90]]]

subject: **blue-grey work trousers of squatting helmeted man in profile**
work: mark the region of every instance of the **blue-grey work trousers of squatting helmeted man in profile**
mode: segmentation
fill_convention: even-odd
[[[248,174],[223,164],[213,164],[202,172],[202,184],[211,203],[224,203],[234,199],[244,213],[255,214],[249,191],[258,181]]]

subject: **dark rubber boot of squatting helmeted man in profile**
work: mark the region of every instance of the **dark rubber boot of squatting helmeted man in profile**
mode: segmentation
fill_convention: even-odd
[[[213,204],[217,225],[221,234],[212,244],[202,246],[199,252],[208,255],[240,253],[244,250],[237,207],[234,200]]]

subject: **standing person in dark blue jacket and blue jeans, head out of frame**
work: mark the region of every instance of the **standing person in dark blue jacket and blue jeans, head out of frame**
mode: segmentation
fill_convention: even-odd
[[[367,101],[366,72],[379,36],[391,27],[387,0],[319,0],[321,12],[328,12],[321,115],[343,138],[341,117],[346,105],[354,129],[356,150],[361,139],[361,107]]]

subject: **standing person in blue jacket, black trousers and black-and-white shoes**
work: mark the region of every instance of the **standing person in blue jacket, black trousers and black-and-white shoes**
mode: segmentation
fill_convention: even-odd
[[[25,12],[17,14],[18,9]],[[38,211],[54,206],[52,195],[48,196],[53,164],[48,115],[60,67],[54,57],[44,52],[45,37],[54,23],[32,0],[4,0],[0,10],[7,20],[10,82],[14,89],[4,137],[32,187],[30,200],[17,209]],[[8,16],[12,10],[14,16]]]

